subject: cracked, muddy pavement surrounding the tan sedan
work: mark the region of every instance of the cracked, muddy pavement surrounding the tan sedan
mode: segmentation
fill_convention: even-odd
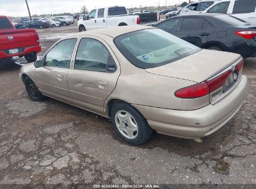
[[[42,55],[74,25],[37,31]],[[47,99],[31,101],[19,78],[23,58],[0,63],[0,184],[256,184],[256,58],[245,60],[250,94],[202,143],[154,134],[122,142],[108,119]]]

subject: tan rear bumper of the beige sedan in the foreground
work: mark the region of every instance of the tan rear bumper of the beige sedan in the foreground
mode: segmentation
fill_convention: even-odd
[[[249,81],[245,76],[239,85],[218,103],[201,109],[179,111],[173,109],[133,106],[148,120],[149,126],[161,134],[186,139],[208,136],[228,122],[242,106],[249,93]]]

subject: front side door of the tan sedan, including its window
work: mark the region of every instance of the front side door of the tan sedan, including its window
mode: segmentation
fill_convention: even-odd
[[[67,73],[76,42],[77,39],[60,41],[42,59],[44,67],[36,68],[36,85],[43,94],[72,102],[67,86]]]

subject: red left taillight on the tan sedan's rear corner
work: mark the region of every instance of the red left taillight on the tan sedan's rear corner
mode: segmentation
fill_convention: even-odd
[[[200,98],[209,94],[209,86],[204,81],[196,85],[187,86],[176,91],[175,96],[178,98]]]

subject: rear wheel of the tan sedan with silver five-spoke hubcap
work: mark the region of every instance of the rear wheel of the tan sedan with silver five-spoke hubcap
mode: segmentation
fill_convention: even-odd
[[[123,141],[141,145],[151,138],[153,129],[149,127],[143,115],[130,104],[115,104],[110,114],[113,128]]]

